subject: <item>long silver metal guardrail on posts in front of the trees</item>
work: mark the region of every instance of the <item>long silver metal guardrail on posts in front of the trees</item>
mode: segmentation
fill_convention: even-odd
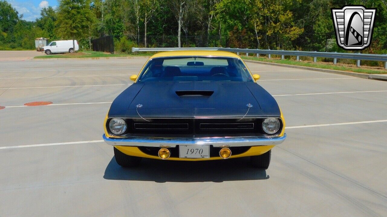
[[[249,53],[267,54],[269,59],[271,55],[281,55],[281,59],[284,56],[296,56],[297,60],[300,60],[300,56],[310,56],[314,58],[314,62],[317,62],[317,57],[333,58],[333,63],[337,63],[337,59],[355,59],[357,60],[357,66],[360,67],[361,60],[382,61],[384,68],[387,70],[387,55],[386,54],[361,54],[361,53],[336,53],[336,52],[317,52],[317,51],[284,51],[284,50],[262,50],[262,49],[241,49],[241,48],[226,48],[226,47],[149,47],[139,48],[132,47],[132,52],[136,51],[185,51],[185,50],[210,50],[210,51],[229,51],[233,53]]]

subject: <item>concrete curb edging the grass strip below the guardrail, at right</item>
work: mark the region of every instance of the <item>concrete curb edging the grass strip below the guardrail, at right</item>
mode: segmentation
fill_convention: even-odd
[[[321,72],[327,72],[327,73],[333,73],[333,74],[339,74],[339,75],[349,75],[354,76],[358,78],[365,78],[365,79],[375,79],[375,80],[384,80],[387,81],[387,75],[375,75],[375,74],[364,74],[364,73],[358,73],[358,72],[349,72],[349,71],[339,71],[339,70],[329,70],[329,69],[321,69],[321,68],[313,68],[313,67],[307,67],[307,66],[295,66],[295,65],[288,65],[288,64],[282,64],[282,63],[269,63],[269,62],[262,62],[262,61],[255,61],[255,60],[248,60],[243,59],[243,61],[248,63],[261,63],[271,66],[286,66],[289,68],[296,68],[296,69],[303,69],[303,70],[312,70],[312,71],[321,71]]]

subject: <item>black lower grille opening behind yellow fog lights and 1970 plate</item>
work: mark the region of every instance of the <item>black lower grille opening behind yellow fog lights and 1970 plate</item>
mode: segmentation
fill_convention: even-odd
[[[160,150],[159,147],[139,147],[140,151],[142,151],[145,154],[149,154],[152,156],[159,156],[158,152]],[[168,148],[171,151],[171,157],[172,158],[178,158],[179,157],[179,146],[176,147],[170,147]],[[210,157],[219,157],[219,151],[221,147],[214,147],[210,145]],[[241,147],[229,147],[231,150],[231,154],[242,154],[248,151],[250,149],[250,146],[241,146]]]

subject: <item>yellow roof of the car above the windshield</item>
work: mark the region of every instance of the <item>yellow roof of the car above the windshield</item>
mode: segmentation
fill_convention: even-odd
[[[224,57],[240,57],[228,51],[203,51],[203,50],[185,50],[185,51],[164,51],[151,56],[152,58],[167,57],[167,56],[224,56]]]

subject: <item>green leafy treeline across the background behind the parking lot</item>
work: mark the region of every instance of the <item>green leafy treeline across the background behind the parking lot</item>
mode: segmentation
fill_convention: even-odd
[[[89,48],[91,39],[113,35],[121,51],[131,46],[339,51],[330,8],[346,4],[377,8],[367,52],[385,52],[387,0],[60,0],[34,22],[0,0],[0,46],[31,49],[36,37],[75,37]]]

